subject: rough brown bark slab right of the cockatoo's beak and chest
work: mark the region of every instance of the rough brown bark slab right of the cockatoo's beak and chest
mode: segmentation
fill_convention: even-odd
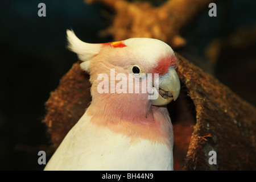
[[[256,109],[216,78],[177,56],[177,72],[196,109],[184,169],[256,169]],[[217,152],[217,165],[208,163],[209,151]]]

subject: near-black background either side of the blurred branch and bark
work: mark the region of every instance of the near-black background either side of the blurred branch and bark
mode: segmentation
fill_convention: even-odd
[[[46,4],[46,17],[38,16],[41,2]],[[255,106],[256,1],[216,4],[217,17],[210,18],[205,10],[181,34],[187,46],[175,51]],[[98,36],[111,23],[103,11],[112,13],[99,3],[86,5],[82,0],[0,0],[1,170],[44,168],[38,164],[38,151],[50,144],[42,123],[44,102],[77,61],[65,47],[65,31],[73,28],[84,42],[112,41]],[[216,63],[209,64],[205,48],[213,40],[220,40],[221,49]],[[239,46],[232,46],[232,41]]]

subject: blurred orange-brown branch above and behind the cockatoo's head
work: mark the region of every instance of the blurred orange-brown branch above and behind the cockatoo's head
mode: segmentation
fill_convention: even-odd
[[[180,36],[183,27],[191,23],[202,10],[208,8],[210,0],[169,0],[160,7],[148,2],[127,2],[124,0],[87,0],[101,2],[115,11],[112,26],[102,35],[111,35],[114,40],[146,37],[162,40],[172,48],[185,45]]]

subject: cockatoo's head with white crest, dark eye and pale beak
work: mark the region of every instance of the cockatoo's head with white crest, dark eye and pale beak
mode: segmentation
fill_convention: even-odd
[[[157,39],[131,38],[90,44],[82,42],[71,30],[67,30],[67,36],[68,48],[83,61],[81,68],[90,74],[92,89],[97,89],[98,93],[132,92],[146,96],[141,98],[149,98],[152,105],[167,105],[179,96],[176,59],[166,43]],[[150,83],[152,86],[145,89]]]

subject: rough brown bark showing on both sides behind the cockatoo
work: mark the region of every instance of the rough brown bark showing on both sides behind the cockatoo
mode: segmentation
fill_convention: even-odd
[[[185,163],[179,165],[186,170],[256,169],[255,107],[243,101],[213,76],[177,53],[176,56],[179,60],[177,73],[196,110],[196,125],[187,157]],[[81,71],[79,62],[75,63],[46,102],[47,115],[44,122],[55,148],[88,107],[88,78]],[[174,127],[174,130],[181,131],[180,135],[187,135],[184,129]],[[176,138],[179,137],[176,135]],[[179,146],[177,142],[179,140],[176,140],[175,145]],[[208,163],[211,150],[217,152],[217,165]]]

